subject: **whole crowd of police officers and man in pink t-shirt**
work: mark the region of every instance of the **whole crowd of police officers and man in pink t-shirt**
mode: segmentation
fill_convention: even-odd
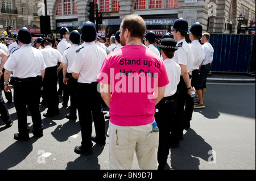
[[[30,31],[20,28],[8,47],[0,44],[2,90],[12,102],[13,85],[18,117],[14,139],[30,139],[27,109],[32,133],[42,137],[39,104],[48,108],[44,117],[54,117],[60,113],[62,95],[63,107],[68,107],[70,99],[65,117],[80,122],[81,145],[75,153],[93,154],[92,141],[106,144],[104,101],[109,107],[110,169],[131,169],[134,151],[141,169],[164,169],[170,148],[179,147],[184,129],[190,127],[193,108],[205,107],[213,48],[201,24],[194,23],[188,30],[182,18],[175,20],[173,33],[163,35],[160,42],[154,32],[144,36],[145,31],[142,17],[132,14],[122,19],[120,30],[107,41],[92,22],[86,22],[81,34],[61,28],[60,41],[39,37],[32,45]],[[187,33],[191,44],[185,41]],[[196,100],[191,96],[193,87]],[[13,120],[1,90],[0,106],[2,120],[11,127]],[[159,132],[152,129],[155,123]]]

